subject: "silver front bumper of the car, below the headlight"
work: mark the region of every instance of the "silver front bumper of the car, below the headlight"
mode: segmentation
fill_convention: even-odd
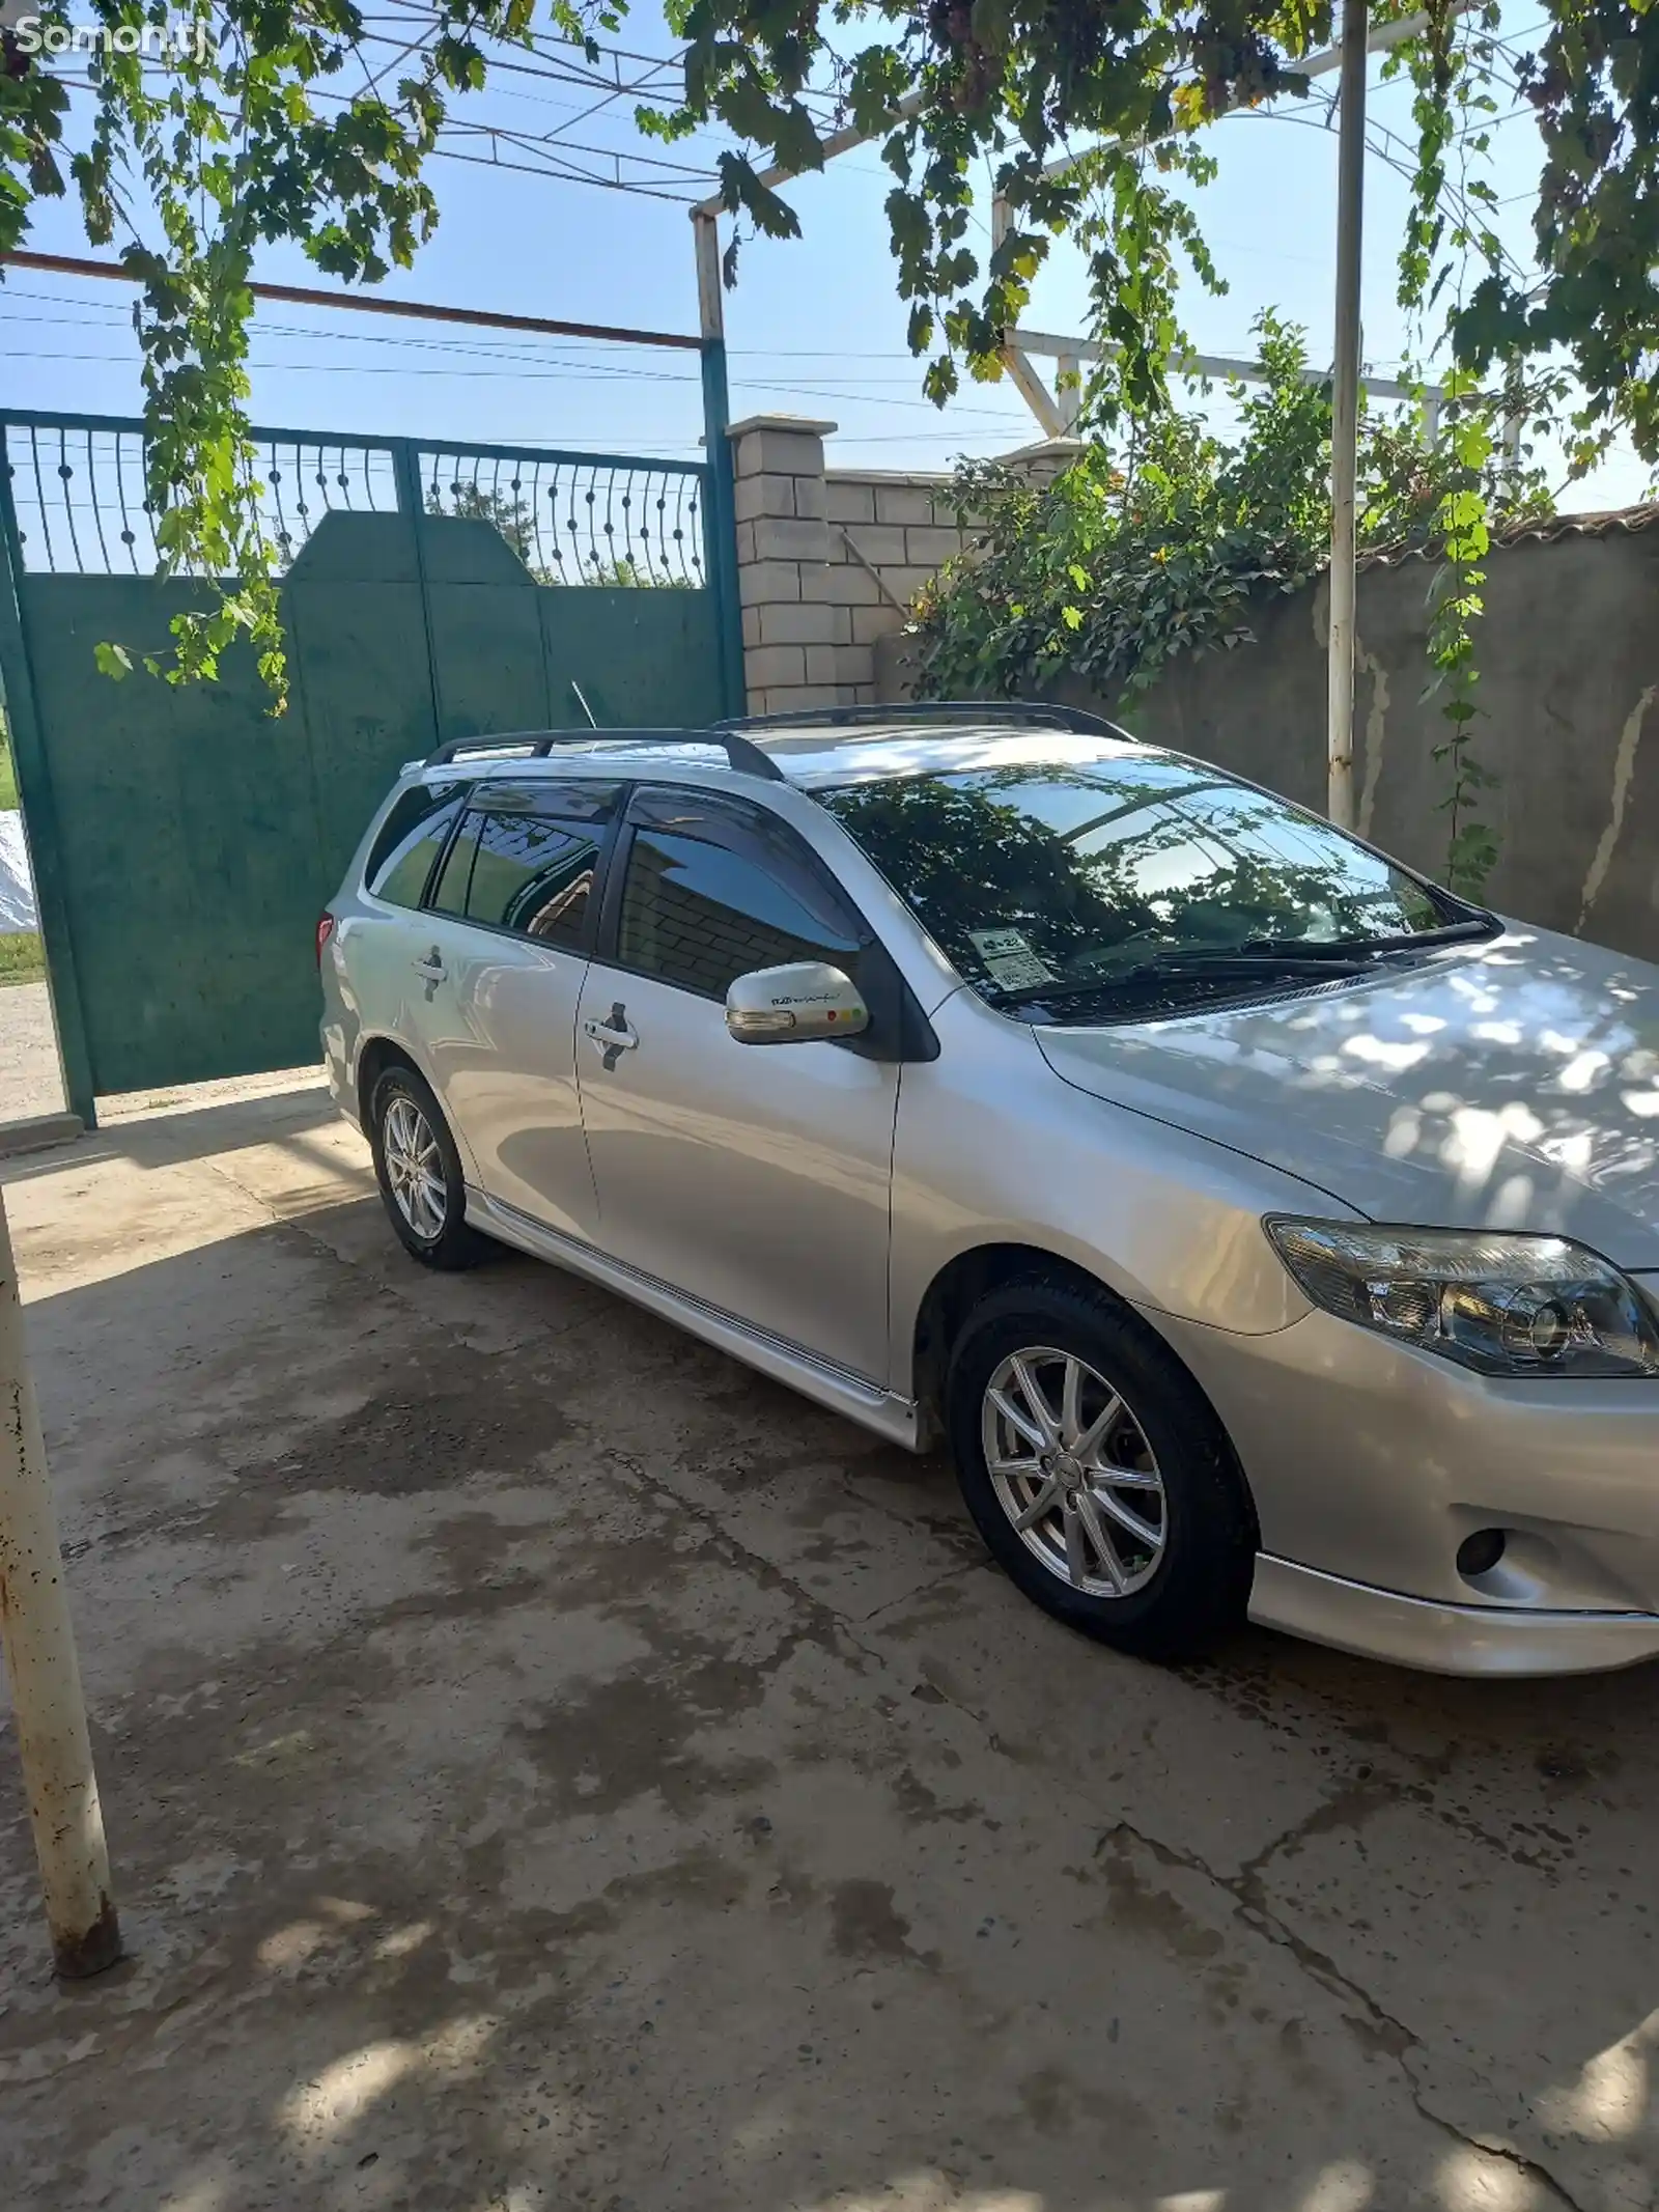
[[[1252,1615],[1469,1674],[1659,1652],[1659,1383],[1509,1383],[1329,1314],[1148,1321],[1210,1396],[1261,1526]],[[1502,1531],[1502,1562],[1458,1571]]]

